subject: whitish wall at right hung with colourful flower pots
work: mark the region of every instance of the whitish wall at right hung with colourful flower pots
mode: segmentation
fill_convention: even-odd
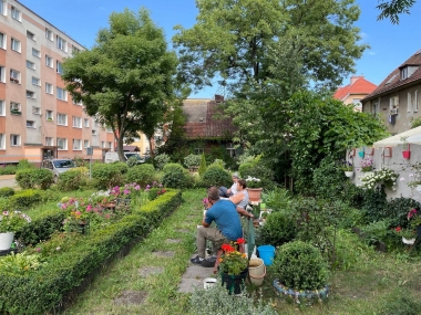
[[[361,171],[361,158],[358,153],[364,150],[364,158],[370,157],[373,159],[374,169],[380,169],[382,166],[388,167],[399,174],[397,179],[397,190],[386,189],[388,199],[391,198],[412,198],[421,202],[421,193],[417,192],[414,189],[408,187],[408,183],[413,180],[410,177],[411,174],[414,174],[411,165],[417,161],[421,161],[421,146],[420,145],[410,145],[411,157],[410,159],[404,159],[402,156],[402,146],[397,146],[392,148],[358,148],[355,150],[356,155],[349,157],[348,159],[353,164],[353,177],[351,178],[352,182],[357,186],[361,186],[360,177],[363,175]],[[391,157],[389,156],[391,153]],[[352,155],[353,150],[348,151],[348,156]],[[371,155],[372,154],[372,155]],[[420,174],[421,176],[421,174]]]

